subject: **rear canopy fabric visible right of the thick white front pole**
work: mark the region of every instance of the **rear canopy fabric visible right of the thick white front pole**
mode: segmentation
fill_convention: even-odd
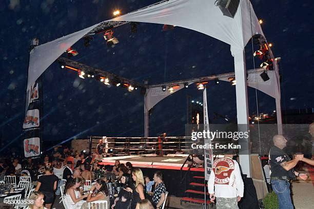
[[[276,98],[276,93],[279,93],[279,79],[276,71],[267,71],[269,80],[264,81],[261,76],[261,72],[248,74],[247,86],[260,90],[269,96]],[[229,81],[228,78],[219,78],[223,81]],[[237,80],[237,78],[235,78]]]

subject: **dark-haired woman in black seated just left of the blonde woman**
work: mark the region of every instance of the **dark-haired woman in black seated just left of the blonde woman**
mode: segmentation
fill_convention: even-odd
[[[121,184],[122,184],[122,188],[125,189],[127,187],[130,187],[132,189],[134,188],[134,184],[132,182],[132,178],[130,174],[123,174],[121,177]],[[113,209],[124,209],[124,208],[128,208],[130,202],[131,202],[131,196],[132,193],[127,192],[126,190],[121,189],[117,198],[115,198],[113,205],[111,206],[111,208]]]

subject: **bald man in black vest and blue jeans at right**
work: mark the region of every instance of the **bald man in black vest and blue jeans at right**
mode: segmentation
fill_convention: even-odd
[[[296,179],[296,176],[303,180],[307,179],[306,174],[300,174],[293,170],[297,163],[302,160],[303,155],[295,155],[295,159],[291,160],[288,154],[283,151],[287,140],[282,135],[274,135],[272,141],[273,147],[269,151],[272,190],[278,196],[279,209],[293,209],[289,180]]]

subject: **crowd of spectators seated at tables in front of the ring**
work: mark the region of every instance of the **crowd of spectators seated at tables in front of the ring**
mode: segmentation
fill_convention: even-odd
[[[161,172],[155,172],[153,180],[150,180],[130,162],[124,164],[116,160],[114,165],[104,165],[96,153],[87,155],[66,147],[55,147],[42,159],[27,158],[21,163],[18,158],[0,160],[0,180],[8,175],[24,175],[26,171],[36,183],[31,198],[36,200],[37,205],[48,209],[54,207],[56,195],[61,194],[60,186],[65,182],[64,194],[61,195],[65,195],[70,209],[88,208],[88,202],[97,200],[107,200],[108,208],[112,209],[161,208],[166,195]],[[86,181],[93,181],[94,184],[84,194]],[[120,183],[121,190],[110,200],[107,184],[114,181]]]

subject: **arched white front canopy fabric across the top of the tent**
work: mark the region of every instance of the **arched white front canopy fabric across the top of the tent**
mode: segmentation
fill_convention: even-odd
[[[234,48],[244,49],[252,34],[263,34],[248,0],[241,0],[234,18],[223,16],[214,1],[169,0],[106,20],[175,25],[217,38]],[[252,24],[251,24],[252,23]],[[27,89],[69,47],[97,25],[35,47],[30,53]]]

